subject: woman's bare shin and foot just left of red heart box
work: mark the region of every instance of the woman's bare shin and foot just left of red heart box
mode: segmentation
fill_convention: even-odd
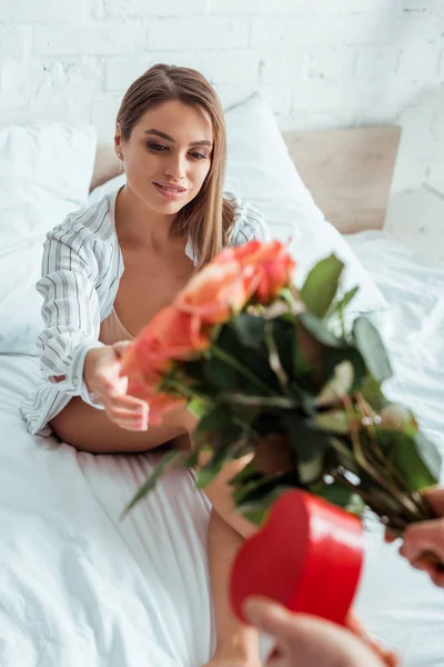
[[[234,616],[229,585],[231,566],[243,538],[213,509],[209,525],[209,561],[218,644],[206,667],[259,667],[258,631]]]

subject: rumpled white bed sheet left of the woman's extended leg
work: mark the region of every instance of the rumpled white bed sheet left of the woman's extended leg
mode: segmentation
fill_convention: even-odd
[[[209,502],[189,471],[120,514],[154,456],[30,436],[32,357],[0,356],[1,667],[196,667],[210,656]]]

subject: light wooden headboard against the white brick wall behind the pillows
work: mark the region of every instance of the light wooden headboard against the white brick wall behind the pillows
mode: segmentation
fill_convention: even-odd
[[[284,132],[289,152],[325,218],[340,231],[382,229],[401,128]],[[91,189],[122,172],[112,145],[98,148]]]

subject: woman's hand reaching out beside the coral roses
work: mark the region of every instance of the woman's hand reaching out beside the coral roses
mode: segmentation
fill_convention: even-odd
[[[87,354],[83,379],[88,391],[104,407],[113,424],[131,431],[144,431],[149,425],[150,406],[129,396],[128,378],[120,377],[121,358],[131,341],[115,342]]]

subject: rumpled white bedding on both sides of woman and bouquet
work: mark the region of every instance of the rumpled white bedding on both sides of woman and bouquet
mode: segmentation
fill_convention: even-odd
[[[379,232],[347,240],[394,303],[381,322],[390,392],[444,452],[444,265]],[[174,472],[120,521],[153,455],[94,457],[28,435],[18,408],[37,376],[36,358],[0,355],[0,666],[200,667],[214,641],[208,501]],[[444,665],[444,591],[372,521],[357,608],[403,665]]]

